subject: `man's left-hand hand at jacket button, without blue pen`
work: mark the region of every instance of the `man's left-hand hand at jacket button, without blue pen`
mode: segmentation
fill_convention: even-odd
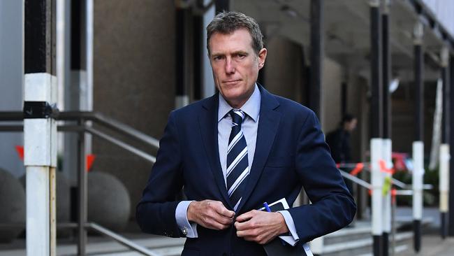
[[[188,206],[187,217],[202,227],[221,230],[232,224],[235,212],[228,211],[221,201],[193,201]]]

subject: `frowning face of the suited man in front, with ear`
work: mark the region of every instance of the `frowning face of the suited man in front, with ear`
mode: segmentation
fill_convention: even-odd
[[[210,62],[214,83],[230,106],[240,108],[249,99],[265,58],[265,48],[256,55],[247,29],[212,34]]]

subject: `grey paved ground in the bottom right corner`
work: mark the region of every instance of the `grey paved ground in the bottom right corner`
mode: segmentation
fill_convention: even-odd
[[[413,248],[409,248],[402,253],[397,253],[396,256],[452,256],[454,255],[454,238],[442,240],[439,235],[430,234],[423,236],[423,245],[419,253],[415,253]]]

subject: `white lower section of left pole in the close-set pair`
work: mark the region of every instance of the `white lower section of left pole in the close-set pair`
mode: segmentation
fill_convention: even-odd
[[[382,159],[382,139],[372,138],[370,141],[370,163],[371,163],[371,182],[372,182],[372,236],[374,240],[380,241],[383,233],[382,220],[382,187],[383,174],[380,171],[379,161]]]

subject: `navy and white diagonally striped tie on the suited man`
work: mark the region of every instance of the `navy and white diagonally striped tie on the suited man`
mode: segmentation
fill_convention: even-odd
[[[232,131],[228,138],[227,148],[227,190],[230,202],[237,210],[242,198],[242,192],[249,176],[249,164],[247,160],[247,144],[241,129],[244,113],[240,110],[231,110]]]

